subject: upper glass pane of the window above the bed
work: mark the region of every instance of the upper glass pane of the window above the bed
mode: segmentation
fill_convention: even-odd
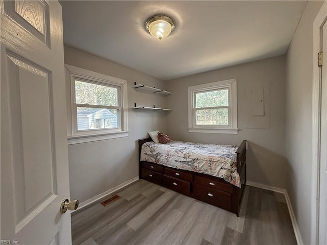
[[[228,90],[216,90],[195,94],[195,107],[228,106]]]

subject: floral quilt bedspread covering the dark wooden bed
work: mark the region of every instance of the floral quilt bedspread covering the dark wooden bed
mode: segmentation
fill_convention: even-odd
[[[181,141],[160,144],[150,141],[142,145],[141,161],[213,175],[241,187],[236,167],[237,149],[237,145]]]

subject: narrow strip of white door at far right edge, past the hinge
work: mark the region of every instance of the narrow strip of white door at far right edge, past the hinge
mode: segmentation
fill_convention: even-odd
[[[319,244],[327,244],[327,24],[322,26]]]

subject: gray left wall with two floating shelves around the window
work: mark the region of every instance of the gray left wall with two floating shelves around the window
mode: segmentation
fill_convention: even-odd
[[[166,131],[167,112],[134,110],[138,105],[166,107],[167,98],[135,90],[131,86],[142,83],[166,89],[166,84],[149,75],[125,66],[64,46],[65,63],[89,71],[99,72],[128,81],[129,137],[68,146],[71,199],[82,203],[106,190],[138,175],[137,139],[145,138],[147,131]]]

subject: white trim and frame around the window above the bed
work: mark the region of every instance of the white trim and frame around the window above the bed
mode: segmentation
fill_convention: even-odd
[[[196,92],[215,90],[220,88],[229,88],[229,103],[230,103],[230,124],[223,125],[195,125],[194,122],[194,94]],[[188,107],[189,107],[189,132],[202,132],[202,133],[228,133],[237,135],[237,79],[229,79],[224,81],[206,83],[196,86],[188,87]]]

